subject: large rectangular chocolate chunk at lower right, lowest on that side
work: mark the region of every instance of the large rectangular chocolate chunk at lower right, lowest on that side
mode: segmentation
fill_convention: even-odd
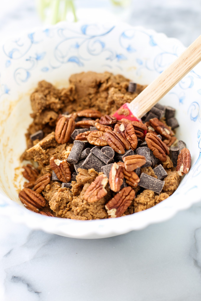
[[[140,182],[138,185],[145,189],[149,189],[154,191],[157,194],[160,194],[165,182],[159,179],[153,178],[151,175],[147,175],[146,173],[142,172],[140,175]]]

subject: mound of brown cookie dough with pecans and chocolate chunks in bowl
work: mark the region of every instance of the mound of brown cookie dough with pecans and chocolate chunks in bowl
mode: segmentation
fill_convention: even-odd
[[[173,194],[191,165],[175,137],[175,109],[156,104],[139,122],[123,110],[117,120],[113,113],[145,86],[108,72],[74,74],[69,82],[57,89],[42,81],[31,94],[24,206],[46,216],[106,219]]]

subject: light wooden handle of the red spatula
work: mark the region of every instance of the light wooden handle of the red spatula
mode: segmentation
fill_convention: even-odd
[[[177,82],[201,61],[199,36],[167,69],[148,85],[131,103],[129,109],[137,118],[146,114]]]

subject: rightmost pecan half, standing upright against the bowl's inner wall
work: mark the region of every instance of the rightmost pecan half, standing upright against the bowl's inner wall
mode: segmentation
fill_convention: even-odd
[[[183,148],[177,159],[177,173],[182,176],[189,172],[191,166],[191,155],[187,148]]]

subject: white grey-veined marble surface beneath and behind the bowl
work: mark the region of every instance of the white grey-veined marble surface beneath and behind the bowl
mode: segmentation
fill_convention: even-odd
[[[200,14],[198,0],[142,0],[133,1],[128,20],[188,45],[200,34]],[[40,24],[32,0],[9,0],[0,12],[0,38]],[[200,282],[201,202],[167,222],[100,240],[0,218],[1,301],[200,301]]]

